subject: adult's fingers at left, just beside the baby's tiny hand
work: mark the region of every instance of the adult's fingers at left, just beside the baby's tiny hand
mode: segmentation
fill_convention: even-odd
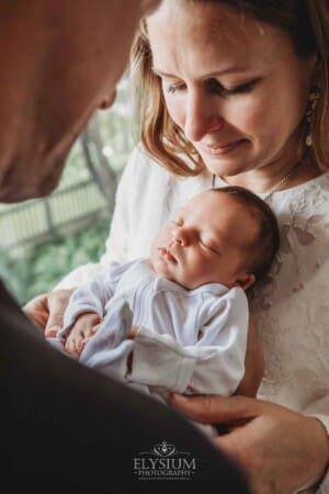
[[[56,336],[63,326],[63,316],[75,289],[57,290],[32,299],[23,311],[45,337]]]

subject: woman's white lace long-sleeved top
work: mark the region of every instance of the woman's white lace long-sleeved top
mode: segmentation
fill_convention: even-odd
[[[207,171],[177,178],[136,148],[118,187],[101,262],[148,256],[169,216],[211,184]],[[280,223],[281,250],[251,300],[265,358],[259,395],[317,416],[329,430],[329,172],[276,192],[269,202]],[[78,268],[60,287],[87,281],[98,269]]]

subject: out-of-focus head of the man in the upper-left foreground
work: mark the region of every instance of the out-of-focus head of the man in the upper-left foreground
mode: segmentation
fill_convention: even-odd
[[[159,0],[0,0],[0,201],[54,190],[93,111],[115,97]]]

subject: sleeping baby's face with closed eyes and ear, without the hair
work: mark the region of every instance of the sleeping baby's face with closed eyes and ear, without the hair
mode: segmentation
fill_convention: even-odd
[[[190,290],[213,282],[247,289],[253,282],[247,261],[257,232],[256,217],[231,195],[202,192],[156,236],[151,262],[158,276]]]

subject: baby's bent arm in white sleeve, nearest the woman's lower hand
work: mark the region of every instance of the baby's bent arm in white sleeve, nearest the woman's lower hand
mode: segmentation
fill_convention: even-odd
[[[182,345],[173,330],[155,334],[139,327],[128,380],[178,393],[234,394],[245,375],[246,294],[234,289],[220,299],[207,296],[198,319],[200,337],[191,345]]]

